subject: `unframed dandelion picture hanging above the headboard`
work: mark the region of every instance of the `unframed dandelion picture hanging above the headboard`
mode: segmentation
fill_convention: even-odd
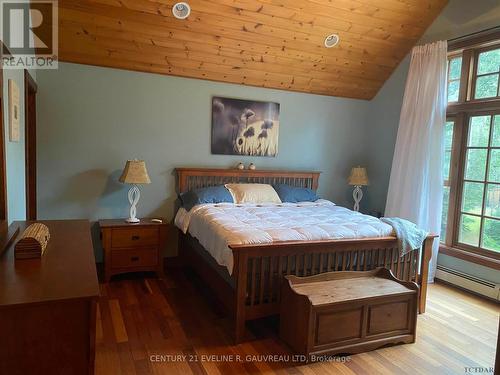
[[[212,154],[276,156],[280,105],[214,97]]]

